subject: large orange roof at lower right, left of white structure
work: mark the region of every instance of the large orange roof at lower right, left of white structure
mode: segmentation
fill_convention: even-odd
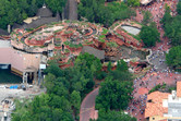
[[[154,92],[147,96],[145,118],[162,116],[168,112],[168,108],[162,107],[162,99],[167,99],[169,93]]]

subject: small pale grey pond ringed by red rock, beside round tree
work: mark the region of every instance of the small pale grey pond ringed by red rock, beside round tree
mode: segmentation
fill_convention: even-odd
[[[130,25],[121,25],[121,28],[125,29],[128,33],[132,35],[137,35],[141,32],[140,28]]]

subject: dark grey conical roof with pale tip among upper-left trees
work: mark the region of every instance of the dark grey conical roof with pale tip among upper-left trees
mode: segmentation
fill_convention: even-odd
[[[40,17],[51,17],[52,12],[44,4],[43,8],[38,10],[36,15]]]

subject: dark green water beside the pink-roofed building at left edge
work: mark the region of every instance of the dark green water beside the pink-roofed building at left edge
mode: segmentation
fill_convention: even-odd
[[[10,69],[0,69],[0,84],[20,84],[22,83],[22,77],[11,73]]]

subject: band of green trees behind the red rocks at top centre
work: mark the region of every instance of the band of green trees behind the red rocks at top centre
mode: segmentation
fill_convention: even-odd
[[[101,23],[108,27],[117,20],[135,15],[135,12],[122,2],[110,2],[105,5],[105,0],[81,0],[79,15],[86,17],[89,22]]]

